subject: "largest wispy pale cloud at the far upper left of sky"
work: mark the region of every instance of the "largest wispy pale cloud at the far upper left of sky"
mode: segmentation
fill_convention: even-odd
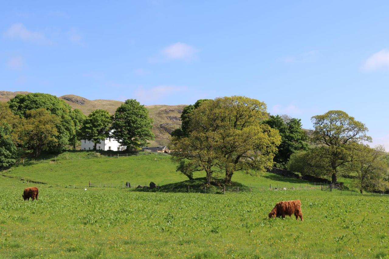
[[[13,24],[7,32],[4,33],[4,37],[9,39],[19,39],[26,42],[32,42],[40,45],[51,45],[53,42],[47,39],[44,33],[32,32],[27,30],[23,23]]]

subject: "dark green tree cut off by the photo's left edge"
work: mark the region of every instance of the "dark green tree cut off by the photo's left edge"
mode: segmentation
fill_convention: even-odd
[[[16,163],[18,150],[11,138],[12,129],[6,122],[0,122],[0,170]]]

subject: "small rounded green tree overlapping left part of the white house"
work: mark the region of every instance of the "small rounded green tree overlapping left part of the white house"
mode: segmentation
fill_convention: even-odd
[[[96,150],[100,140],[109,137],[110,126],[111,117],[109,112],[102,109],[94,110],[84,119],[79,130],[79,138],[93,141],[95,144],[93,150]]]

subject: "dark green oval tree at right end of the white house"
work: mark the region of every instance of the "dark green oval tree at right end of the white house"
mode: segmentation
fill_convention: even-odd
[[[128,151],[144,147],[147,140],[154,140],[149,111],[135,99],[128,99],[118,107],[112,121],[112,136],[121,145],[126,145]]]

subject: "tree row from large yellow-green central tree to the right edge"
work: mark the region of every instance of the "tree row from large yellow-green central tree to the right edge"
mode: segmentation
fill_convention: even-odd
[[[207,184],[220,175],[230,184],[236,171],[255,175],[277,166],[333,183],[338,175],[352,177],[361,193],[388,187],[388,154],[364,144],[371,142],[367,127],[340,110],[313,116],[309,137],[300,119],[269,116],[265,103],[243,96],[198,100],[181,119],[170,149],[189,179],[204,171]]]

